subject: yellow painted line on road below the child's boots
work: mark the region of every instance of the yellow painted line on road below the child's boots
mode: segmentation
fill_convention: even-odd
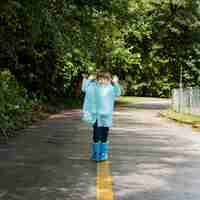
[[[97,162],[96,200],[113,200],[109,161]]]

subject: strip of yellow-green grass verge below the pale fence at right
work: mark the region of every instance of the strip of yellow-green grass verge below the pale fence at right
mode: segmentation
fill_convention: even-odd
[[[184,124],[191,124],[193,128],[200,131],[200,116],[187,113],[177,113],[172,109],[160,112],[162,117],[166,117]]]

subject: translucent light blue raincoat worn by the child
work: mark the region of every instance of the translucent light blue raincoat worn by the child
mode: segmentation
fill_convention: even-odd
[[[114,101],[121,95],[120,86],[84,79],[82,91],[85,92],[82,119],[92,125],[97,121],[99,127],[111,127]]]

